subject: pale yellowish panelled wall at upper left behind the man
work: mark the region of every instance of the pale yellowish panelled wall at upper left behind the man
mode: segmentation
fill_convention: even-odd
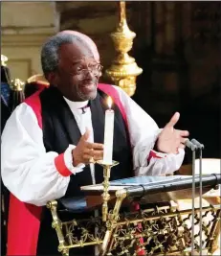
[[[55,2],[2,2],[1,53],[9,58],[11,78],[41,73],[42,43],[59,30]]]

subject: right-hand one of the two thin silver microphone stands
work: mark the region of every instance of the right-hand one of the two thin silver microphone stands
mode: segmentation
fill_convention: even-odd
[[[200,205],[200,221],[199,221],[199,225],[200,225],[200,244],[199,244],[199,253],[200,256],[202,255],[202,250],[203,250],[203,230],[202,230],[202,208],[203,208],[203,185],[202,185],[202,156],[203,156],[203,149],[204,149],[204,145],[199,143],[197,140],[192,139],[191,142],[197,147],[197,150],[199,150],[199,158],[200,158],[200,162],[199,162],[199,175],[200,175],[200,190],[199,190],[199,205]]]

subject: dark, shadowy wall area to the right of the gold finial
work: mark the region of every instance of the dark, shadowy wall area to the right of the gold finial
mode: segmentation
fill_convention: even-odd
[[[221,157],[221,3],[140,3],[132,19],[144,69],[134,99],[160,126],[179,110],[178,127],[207,145],[204,157]]]

